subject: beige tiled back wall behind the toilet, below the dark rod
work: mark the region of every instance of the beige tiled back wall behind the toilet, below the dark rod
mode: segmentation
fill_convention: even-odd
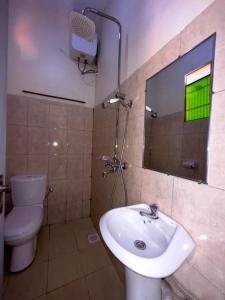
[[[89,216],[93,110],[9,95],[7,180],[47,174],[45,222]]]

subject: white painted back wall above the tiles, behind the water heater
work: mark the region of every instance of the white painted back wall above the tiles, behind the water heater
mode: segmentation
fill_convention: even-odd
[[[93,106],[95,75],[81,76],[69,52],[68,13],[76,0],[9,0],[8,93],[53,94]]]

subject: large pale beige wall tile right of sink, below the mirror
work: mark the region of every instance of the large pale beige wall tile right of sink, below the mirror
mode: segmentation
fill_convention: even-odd
[[[220,270],[225,267],[224,206],[223,190],[174,179],[172,216],[189,231],[197,245],[193,264],[221,289],[225,284],[225,278],[220,278]],[[211,264],[217,272],[213,278]]]

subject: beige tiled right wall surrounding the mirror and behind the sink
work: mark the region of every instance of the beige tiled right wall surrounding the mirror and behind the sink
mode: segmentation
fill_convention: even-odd
[[[196,243],[192,257],[175,273],[177,280],[197,299],[225,299],[225,3],[216,0],[164,46],[122,85],[128,99],[134,100],[130,113],[125,159],[129,204],[157,203],[190,232]],[[209,136],[208,185],[167,176],[142,168],[144,141],[145,81],[179,55],[217,33],[212,115]],[[115,111],[94,110],[93,178],[91,215],[96,225],[111,206],[124,205],[122,185],[113,202],[110,192],[114,176],[101,177],[100,154],[111,154]],[[121,113],[124,124],[124,113]],[[116,260],[115,260],[116,261]],[[121,265],[118,264],[121,268]]]

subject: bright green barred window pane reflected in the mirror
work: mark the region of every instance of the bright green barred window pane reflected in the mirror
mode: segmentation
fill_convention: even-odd
[[[185,121],[209,117],[211,75],[185,87]]]

